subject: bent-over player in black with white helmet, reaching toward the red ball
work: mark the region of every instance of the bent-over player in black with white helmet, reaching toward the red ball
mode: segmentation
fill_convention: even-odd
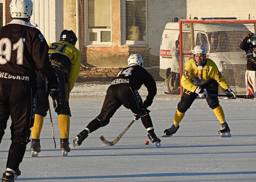
[[[100,114],[75,137],[73,141],[74,147],[80,146],[89,133],[106,126],[121,105],[131,109],[135,114],[135,119],[141,118],[144,127],[148,131],[148,138],[156,146],[161,145],[161,140],[154,133],[153,123],[149,116],[150,111],[147,109],[151,106],[157,93],[156,83],[148,71],[141,66],[141,55],[131,54],[128,58],[128,67],[122,69],[108,87]],[[148,89],[148,96],[144,102],[142,102],[138,93],[142,84]]]

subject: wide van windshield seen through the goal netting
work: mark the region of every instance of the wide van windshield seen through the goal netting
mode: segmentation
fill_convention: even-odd
[[[246,34],[246,31],[219,31],[208,33],[210,52],[243,52],[239,46]]]

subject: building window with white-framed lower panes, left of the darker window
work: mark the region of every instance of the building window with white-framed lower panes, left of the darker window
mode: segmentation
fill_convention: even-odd
[[[88,44],[111,43],[111,0],[88,0]]]

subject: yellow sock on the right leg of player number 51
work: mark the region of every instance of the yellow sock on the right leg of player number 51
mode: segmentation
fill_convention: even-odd
[[[59,114],[58,123],[60,138],[69,138],[69,115]]]

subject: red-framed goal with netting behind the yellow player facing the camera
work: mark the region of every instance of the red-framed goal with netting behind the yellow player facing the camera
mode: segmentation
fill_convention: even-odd
[[[246,53],[240,43],[250,32],[255,32],[253,20],[181,20],[179,42],[181,72],[193,57],[194,46],[203,45],[207,58],[215,62],[229,86],[237,94],[246,94]],[[223,93],[219,88],[220,93]],[[182,92],[182,89],[181,89]]]

